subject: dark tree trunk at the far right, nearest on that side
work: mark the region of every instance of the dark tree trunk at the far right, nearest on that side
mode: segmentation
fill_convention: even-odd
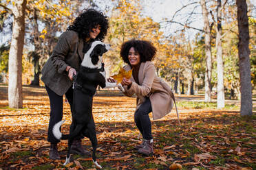
[[[240,113],[244,115],[253,114],[252,85],[250,77],[250,49],[249,49],[249,29],[246,0],[237,0],[237,21],[238,21],[238,56],[239,56],[239,76],[241,91]]]

